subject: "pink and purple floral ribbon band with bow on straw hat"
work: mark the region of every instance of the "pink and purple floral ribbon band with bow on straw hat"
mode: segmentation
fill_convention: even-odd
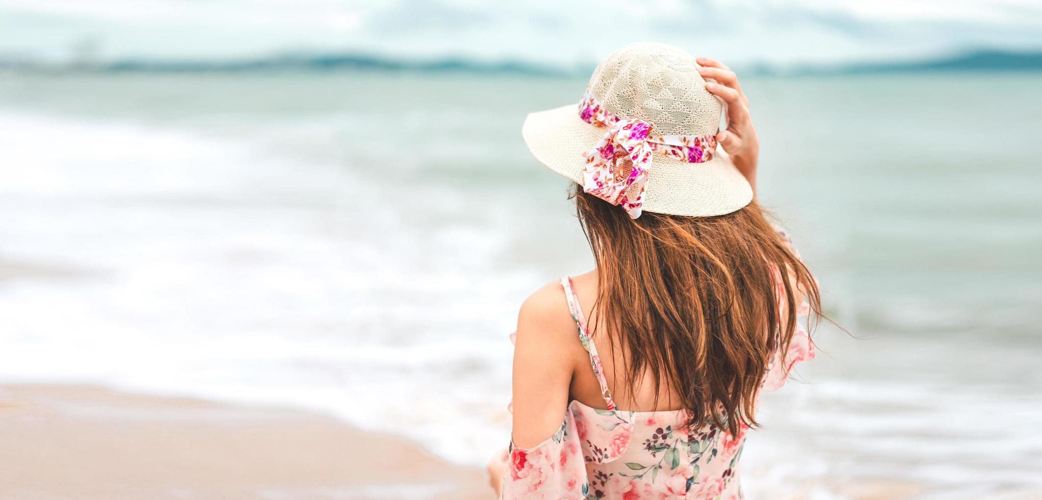
[[[613,205],[621,205],[632,219],[641,217],[643,211],[651,153],[700,164],[713,158],[716,148],[713,135],[652,134],[651,124],[637,118],[619,119],[605,110],[590,90],[579,102],[579,118],[609,129],[586,153],[584,191]]]

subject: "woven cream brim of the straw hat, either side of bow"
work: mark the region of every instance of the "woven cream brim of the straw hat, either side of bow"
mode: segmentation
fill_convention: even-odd
[[[576,106],[570,104],[528,115],[521,126],[521,135],[536,159],[581,184],[586,153],[607,129],[584,122]],[[752,188],[720,148],[713,159],[703,164],[652,155],[644,194],[645,211],[688,217],[722,216],[742,208],[751,200]]]

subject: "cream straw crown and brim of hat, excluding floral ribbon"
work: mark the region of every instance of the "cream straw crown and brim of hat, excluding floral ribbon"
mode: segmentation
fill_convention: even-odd
[[[597,66],[588,96],[609,116],[622,121],[637,119],[650,125],[654,134],[715,136],[723,106],[705,90],[705,80],[697,68],[695,58],[676,47],[628,45]],[[589,173],[587,158],[592,150],[596,151],[598,142],[604,144],[611,127],[588,123],[581,110],[581,105],[572,103],[532,113],[525,119],[521,134],[536,159],[579,184],[586,180],[586,191],[591,192],[589,176],[585,178],[584,172],[586,169]],[[706,149],[705,156],[711,159],[701,162],[659,152],[650,154],[643,180],[643,210],[708,217],[730,214],[747,205],[752,200],[748,181],[722,148],[716,147],[715,139]],[[640,210],[638,207],[636,216],[630,216],[639,217]]]

